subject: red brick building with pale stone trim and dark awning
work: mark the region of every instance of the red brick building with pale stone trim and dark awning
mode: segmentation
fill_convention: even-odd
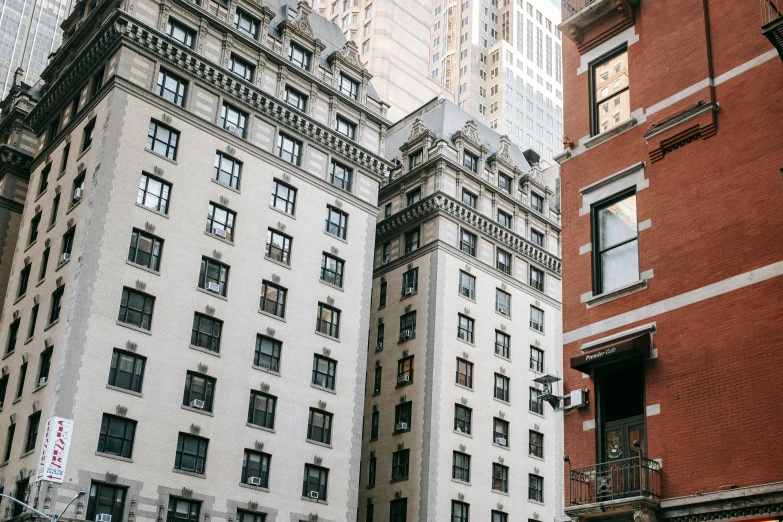
[[[783,2],[563,4],[565,512],[780,520]]]

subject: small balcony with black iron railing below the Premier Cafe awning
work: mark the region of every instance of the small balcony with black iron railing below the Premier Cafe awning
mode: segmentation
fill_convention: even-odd
[[[621,513],[647,506],[656,509],[661,498],[660,464],[642,456],[612,460],[569,470],[566,514]]]

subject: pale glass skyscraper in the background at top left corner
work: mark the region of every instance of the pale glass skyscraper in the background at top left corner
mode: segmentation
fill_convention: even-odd
[[[71,12],[71,0],[0,0],[0,90],[13,85],[14,71],[33,84],[49,54],[60,46],[60,24]]]

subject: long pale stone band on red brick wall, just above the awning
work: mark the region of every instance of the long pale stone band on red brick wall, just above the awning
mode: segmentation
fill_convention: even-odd
[[[623,326],[633,324],[639,321],[650,319],[657,315],[677,310],[688,305],[700,303],[707,299],[712,299],[719,295],[733,292],[751,286],[767,279],[783,276],[783,261],[772,263],[771,265],[751,270],[722,281],[717,281],[707,286],[685,292],[684,294],[669,297],[657,303],[652,303],[636,310],[629,310],[628,312],[598,321],[596,323],[571,330],[570,332],[563,333],[563,344],[570,344],[575,341],[586,339],[603,332],[614,330],[615,328],[622,328]]]

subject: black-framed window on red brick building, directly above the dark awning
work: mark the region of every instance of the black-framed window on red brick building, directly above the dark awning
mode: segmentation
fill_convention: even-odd
[[[625,192],[593,208],[593,266],[596,294],[639,280],[636,194]]]

